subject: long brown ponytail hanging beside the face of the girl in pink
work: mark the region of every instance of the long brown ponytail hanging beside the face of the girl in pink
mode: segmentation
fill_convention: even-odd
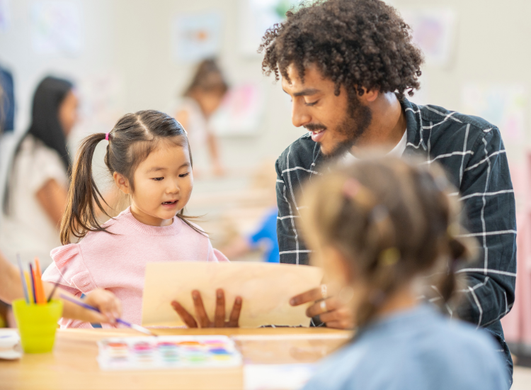
[[[98,222],[95,204],[107,214],[101,205],[103,199],[92,176],[92,158],[96,146],[105,140],[105,133],[85,138],[79,147],[72,168],[72,182],[68,191],[67,208],[61,221],[61,243],[70,243],[72,235],[83,238],[88,231],[105,230]],[[105,202],[105,200],[103,200]]]

